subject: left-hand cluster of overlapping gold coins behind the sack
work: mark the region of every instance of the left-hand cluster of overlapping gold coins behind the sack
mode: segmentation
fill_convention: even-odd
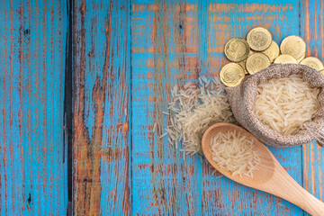
[[[254,28],[248,32],[247,40],[233,38],[226,43],[225,56],[233,63],[221,68],[220,79],[228,86],[239,85],[245,75],[268,67],[278,55],[279,46],[272,40],[270,31]]]

